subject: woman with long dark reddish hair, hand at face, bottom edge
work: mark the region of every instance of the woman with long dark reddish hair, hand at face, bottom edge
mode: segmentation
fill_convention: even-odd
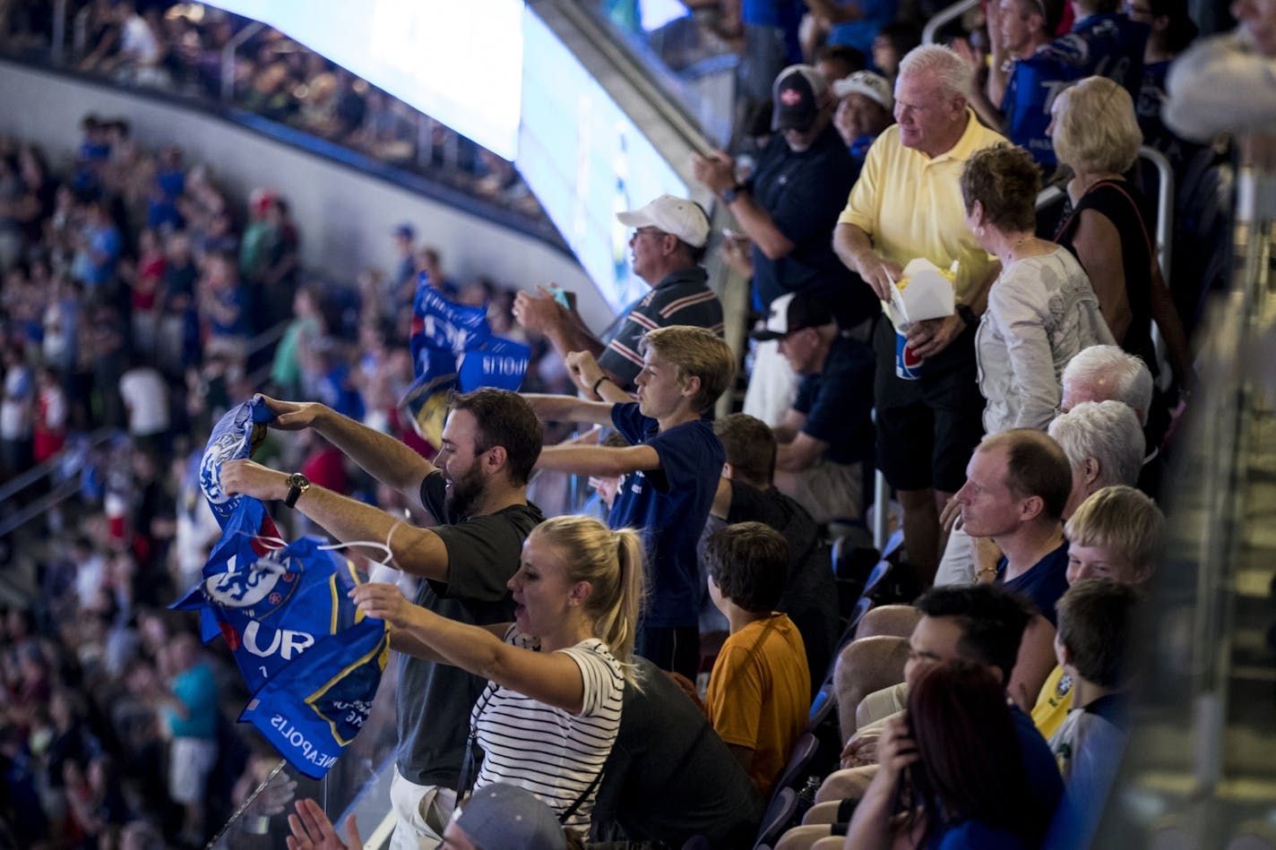
[[[926,670],[907,712],[887,721],[878,759],[846,850],[1027,850],[1053,814],[1032,796],[1004,684],[985,665]]]

